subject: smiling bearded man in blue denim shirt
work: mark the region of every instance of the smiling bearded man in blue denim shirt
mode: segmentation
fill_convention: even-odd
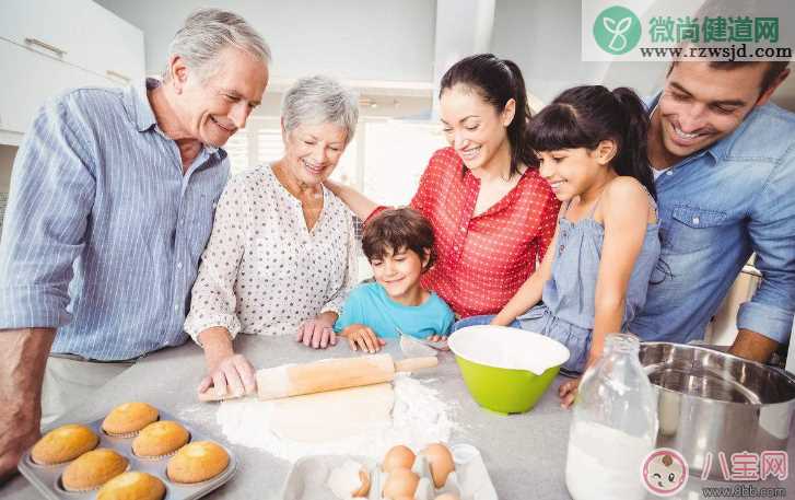
[[[763,280],[741,305],[732,352],[767,361],[795,314],[795,114],[770,97],[786,62],[674,62],[651,103],[664,279],[630,330],[687,342],[704,328],[751,253]]]

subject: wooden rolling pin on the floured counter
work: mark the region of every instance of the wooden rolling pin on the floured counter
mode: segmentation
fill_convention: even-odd
[[[283,364],[257,370],[257,397],[278,399],[302,394],[323,393],[338,388],[381,384],[395,379],[396,372],[411,372],[439,364],[435,356],[393,361],[389,354],[360,358],[327,359],[304,364]],[[217,396],[212,387],[199,393],[199,400],[214,402],[234,398]]]

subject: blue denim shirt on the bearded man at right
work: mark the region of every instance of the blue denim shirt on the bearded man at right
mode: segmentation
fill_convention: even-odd
[[[648,108],[654,109],[659,94]],[[737,327],[779,342],[795,314],[795,114],[755,108],[729,136],[656,181],[660,270],[630,329],[644,340],[687,342],[704,328],[756,252],[762,283]]]

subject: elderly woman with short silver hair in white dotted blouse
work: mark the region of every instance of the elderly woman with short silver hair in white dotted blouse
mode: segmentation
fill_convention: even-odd
[[[353,138],[356,98],[326,77],[299,80],[282,103],[284,156],[232,178],[219,200],[185,330],[204,349],[199,392],[250,394],[254,370],[233,340],[296,334],[336,344],[355,279],[351,213],[323,182]]]

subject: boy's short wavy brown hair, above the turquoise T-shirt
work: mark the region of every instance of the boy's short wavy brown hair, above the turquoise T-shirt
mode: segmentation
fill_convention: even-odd
[[[402,207],[387,209],[367,222],[362,233],[362,251],[367,260],[382,259],[388,252],[410,249],[420,256],[429,256],[422,268],[426,271],[433,266],[436,254],[433,249],[433,228],[417,210]]]

